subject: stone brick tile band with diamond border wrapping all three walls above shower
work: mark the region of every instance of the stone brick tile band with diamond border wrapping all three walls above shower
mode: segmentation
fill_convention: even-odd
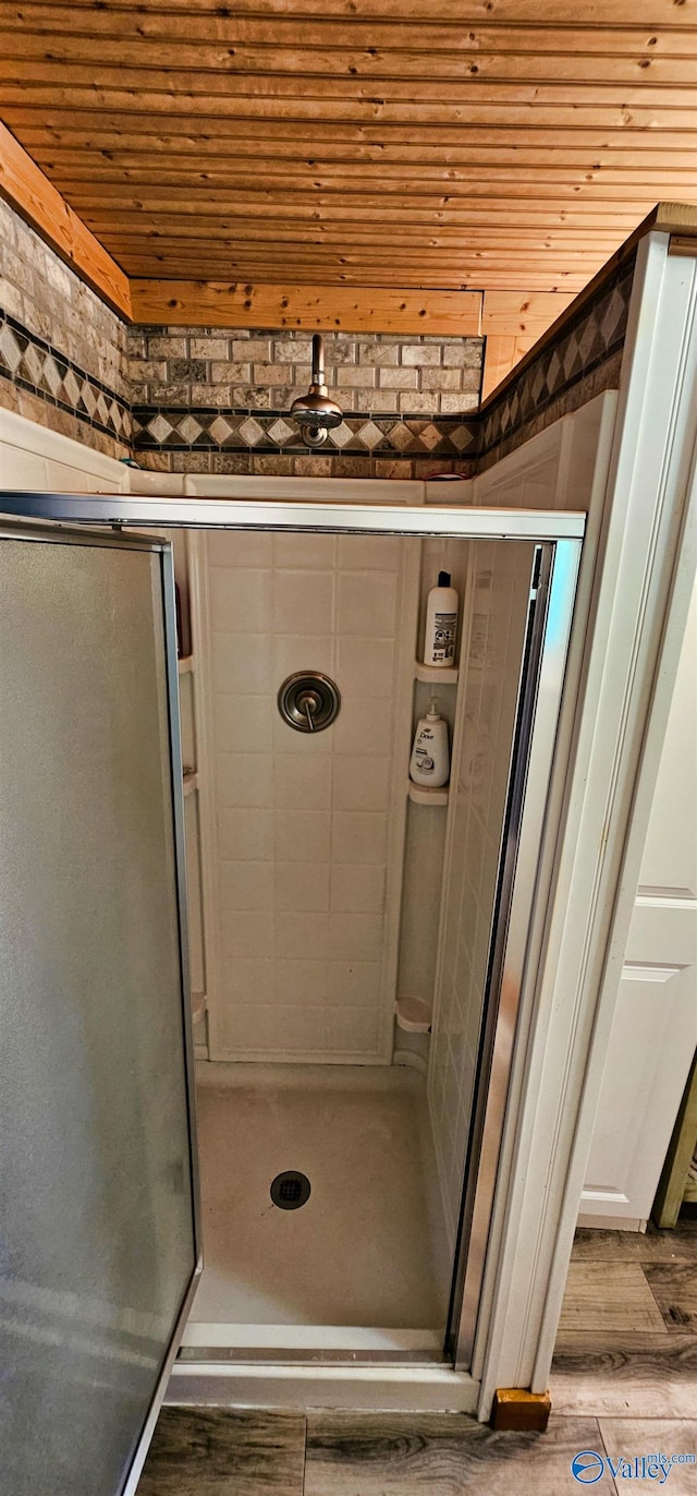
[[[290,420],[308,332],[126,328],[0,200],[0,407],[156,471],[470,476],[618,386],[633,275],[621,260],[482,416],[482,338],[326,334],[344,420],[313,450]]]

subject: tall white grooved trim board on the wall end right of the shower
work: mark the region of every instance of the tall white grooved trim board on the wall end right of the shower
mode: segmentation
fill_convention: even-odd
[[[553,787],[564,829],[549,847],[549,914],[540,911],[531,929],[528,1026],[516,1052],[497,1251],[473,1364],[483,1418],[500,1385],[543,1391],[553,1354],[678,664],[679,642],[663,643],[697,428],[694,266],[667,256],[667,235],[642,241],[607,488],[598,455],[579,591],[583,637],[576,630],[561,727],[568,770],[558,770]],[[678,600],[682,628],[687,601]]]

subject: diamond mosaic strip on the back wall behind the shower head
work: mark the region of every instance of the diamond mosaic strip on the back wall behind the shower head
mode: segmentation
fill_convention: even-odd
[[[329,431],[326,455],[461,458],[477,450],[479,423],[462,416],[346,416]],[[133,407],[133,447],[147,452],[308,453],[287,411],[218,407]]]

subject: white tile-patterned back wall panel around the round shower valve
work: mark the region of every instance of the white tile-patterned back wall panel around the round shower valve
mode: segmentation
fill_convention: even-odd
[[[211,1058],[390,1058],[402,636],[416,616],[408,546],[206,534],[220,951]],[[295,732],[278,712],[296,670],[338,684],[341,711],[325,732]]]

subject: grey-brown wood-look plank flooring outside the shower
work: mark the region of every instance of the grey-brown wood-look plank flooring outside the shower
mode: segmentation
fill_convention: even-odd
[[[461,1414],[265,1414],[165,1408],[139,1496],[559,1496],[580,1450],[697,1454],[697,1222],[579,1231],[544,1435]],[[697,1465],[670,1469],[697,1496]],[[607,1466],[594,1490],[630,1489]],[[633,1478],[631,1490],[657,1489]]]

